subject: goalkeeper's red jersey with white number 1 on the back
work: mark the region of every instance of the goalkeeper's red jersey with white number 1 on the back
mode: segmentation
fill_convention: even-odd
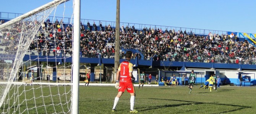
[[[119,82],[132,82],[129,75],[130,72],[133,72],[133,64],[130,61],[125,60],[119,65],[118,70],[120,71],[120,81]]]

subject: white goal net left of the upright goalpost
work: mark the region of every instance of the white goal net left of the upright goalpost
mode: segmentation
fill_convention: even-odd
[[[3,114],[71,113],[73,14],[64,17],[67,1],[54,0],[0,25]],[[59,7],[61,15],[55,14]]]

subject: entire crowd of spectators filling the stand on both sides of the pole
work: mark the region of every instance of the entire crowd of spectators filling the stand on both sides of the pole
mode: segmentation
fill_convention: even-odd
[[[98,31],[97,25],[94,23],[91,26],[89,22],[87,28],[82,23],[80,28],[81,57],[114,56],[115,28],[110,24],[103,27],[100,23]],[[37,49],[43,55],[49,55],[50,50],[54,55],[72,55],[73,37],[69,24],[63,24],[62,20],[51,23],[47,19],[42,24],[42,29],[48,36],[39,31],[37,41],[31,43],[30,49]],[[238,41],[236,35],[211,32],[208,35],[196,35],[192,31],[163,31],[161,28],[151,27],[135,30],[134,26],[122,26],[120,47],[139,50],[141,53],[134,53],[132,59],[138,57],[144,60],[255,64],[256,58],[256,48],[246,40]],[[124,52],[121,52],[120,58],[124,55]]]

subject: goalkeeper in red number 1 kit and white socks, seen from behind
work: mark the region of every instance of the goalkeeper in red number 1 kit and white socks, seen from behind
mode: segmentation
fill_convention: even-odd
[[[117,71],[117,80],[116,80],[115,87],[118,89],[118,93],[117,93],[117,97],[115,97],[112,112],[116,111],[115,107],[117,106],[119,98],[123,95],[123,92],[125,92],[125,90],[127,90],[127,92],[129,92],[131,94],[130,112],[131,113],[137,113],[138,112],[134,109],[135,89],[134,89],[134,86],[133,86],[133,83],[132,83],[133,64],[130,63],[131,54],[132,54],[131,51],[126,52],[126,54],[125,54],[125,59],[126,60],[120,64],[120,66],[118,68],[118,71]],[[120,80],[119,80],[119,76],[120,76]]]

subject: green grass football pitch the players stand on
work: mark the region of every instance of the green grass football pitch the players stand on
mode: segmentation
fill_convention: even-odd
[[[40,87],[35,85],[34,88]],[[139,114],[255,114],[255,90],[256,87],[231,87],[221,86],[217,91],[208,89],[198,89],[199,86],[194,86],[191,94],[188,94],[188,87],[143,87],[136,89],[136,100],[134,108],[139,111]],[[34,89],[36,100],[33,99],[32,86],[26,86],[27,104],[23,103],[21,109],[32,108],[34,101],[37,106],[43,104],[49,106],[41,106],[32,108],[23,112],[24,114],[45,114],[62,112],[62,109],[67,110],[68,104],[55,106],[54,104],[66,103],[66,97],[70,86],[53,86],[43,87],[42,89]],[[22,88],[21,88],[22,89]],[[24,87],[23,87],[24,89]],[[43,92],[41,92],[43,91]],[[113,101],[117,95],[117,89],[114,86],[80,86],[79,88],[79,114],[128,114],[130,113],[130,94],[125,92],[120,98],[117,105],[117,111],[112,112]],[[51,97],[40,97],[42,94],[48,96],[50,94],[60,95]],[[19,96],[19,100],[24,96]],[[31,99],[32,98],[32,99]],[[61,100],[61,102],[60,102]],[[43,102],[44,101],[44,102]],[[12,100],[10,100],[12,102]],[[27,107],[28,106],[28,107]],[[15,108],[14,106],[13,108]],[[3,110],[3,106],[1,110]],[[6,110],[6,109],[5,109]],[[11,109],[12,110],[12,109]],[[64,111],[65,112],[65,111]],[[17,113],[17,112],[16,112]]]

